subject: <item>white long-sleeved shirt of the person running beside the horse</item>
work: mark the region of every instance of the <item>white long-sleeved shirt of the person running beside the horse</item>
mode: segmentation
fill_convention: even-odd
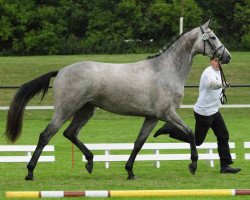
[[[212,66],[207,67],[201,75],[199,97],[194,105],[194,111],[204,116],[217,113],[221,105],[221,91],[220,71],[215,70]]]

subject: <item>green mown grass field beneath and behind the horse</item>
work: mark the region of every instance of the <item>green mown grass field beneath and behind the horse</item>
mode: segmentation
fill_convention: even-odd
[[[250,53],[233,53],[232,63],[225,66],[226,78],[233,84],[249,83]],[[81,60],[96,60],[101,62],[134,62],[142,60],[146,55],[93,55],[93,56],[43,56],[43,57],[2,57],[0,58],[0,85],[20,85],[36,76],[62,66]],[[188,84],[198,84],[201,71],[207,65],[208,59],[198,56],[188,80]],[[15,90],[0,90],[0,106],[8,106]],[[197,98],[197,89],[186,89],[183,104],[193,104]],[[250,102],[249,88],[231,88],[228,92],[229,104]],[[39,98],[29,105],[52,105],[51,91],[44,101]],[[71,167],[71,144],[63,136],[67,122],[50,144],[55,145],[56,162],[38,163],[34,172],[35,180],[27,182],[25,163],[0,163],[0,199],[5,191],[39,191],[39,190],[122,190],[122,189],[231,189],[250,188],[250,161],[244,160],[243,142],[250,141],[249,137],[250,109],[222,109],[225,121],[230,131],[230,141],[236,143],[232,150],[237,155],[234,166],[242,171],[235,175],[219,173],[219,162],[215,168],[209,167],[205,161],[200,161],[195,176],[187,169],[189,161],[161,162],[159,169],[152,162],[136,162],[134,172],[136,181],[128,181],[124,170],[124,162],[111,163],[110,169],[104,168],[104,163],[95,163],[90,175],[81,161],[81,153],[75,149],[75,168]],[[179,115],[193,129],[194,117],[191,109],[180,109]],[[0,133],[4,132],[6,111],[0,111]],[[52,111],[26,111],[24,117],[23,135],[16,144],[36,144],[39,133],[48,124]],[[143,122],[139,117],[118,116],[97,110],[93,119],[81,131],[79,138],[84,143],[105,142],[134,142]],[[156,127],[159,128],[162,122]],[[156,130],[155,129],[155,130]],[[155,131],[154,130],[154,131]],[[207,142],[216,139],[210,131]],[[176,142],[162,136],[157,139],[150,136],[147,142]],[[0,137],[0,144],[6,144]],[[249,151],[248,151],[249,152]],[[116,198],[114,198],[116,199]],[[129,198],[131,199],[131,198]],[[136,198],[142,199],[142,198]],[[163,199],[163,198],[155,198]],[[168,199],[193,200],[192,197]],[[203,197],[199,199],[250,199],[250,197]]]

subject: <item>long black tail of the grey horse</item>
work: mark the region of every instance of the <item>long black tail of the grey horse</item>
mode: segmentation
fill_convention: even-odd
[[[24,109],[35,95],[42,93],[44,95],[48,92],[50,78],[55,77],[58,71],[53,71],[44,74],[28,83],[23,84],[20,89],[16,92],[12,99],[8,116],[5,136],[9,142],[15,142],[21,135],[23,125],[23,113]]]

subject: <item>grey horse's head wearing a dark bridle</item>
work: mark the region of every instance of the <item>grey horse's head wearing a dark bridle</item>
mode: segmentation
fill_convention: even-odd
[[[218,58],[222,64],[229,63],[231,59],[230,52],[209,28],[209,24],[210,20],[199,27],[200,33],[197,39],[199,51],[210,58]]]

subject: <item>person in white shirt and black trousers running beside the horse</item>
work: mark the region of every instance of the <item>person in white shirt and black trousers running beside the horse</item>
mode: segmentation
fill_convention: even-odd
[[[201,75],[199,84],[199,97],[194,105],[195,116],[195,142],[201,145],[207,135],[209,128],[212,128],[218,142],[218,153],[220,156],[220,173],[237,173],[240,168],[232,168],[233,163],[229,149],[229,132],[223,117],[219,111],[221,105],[220,96],[222,89],[229,87],[223,86],[220,73],[220,63],[218,59],[210,59],[210,66]],[[184,142],[189,142],[188,136],[179,128],[165,124],[154,135],[169,134],[171,138]]]

